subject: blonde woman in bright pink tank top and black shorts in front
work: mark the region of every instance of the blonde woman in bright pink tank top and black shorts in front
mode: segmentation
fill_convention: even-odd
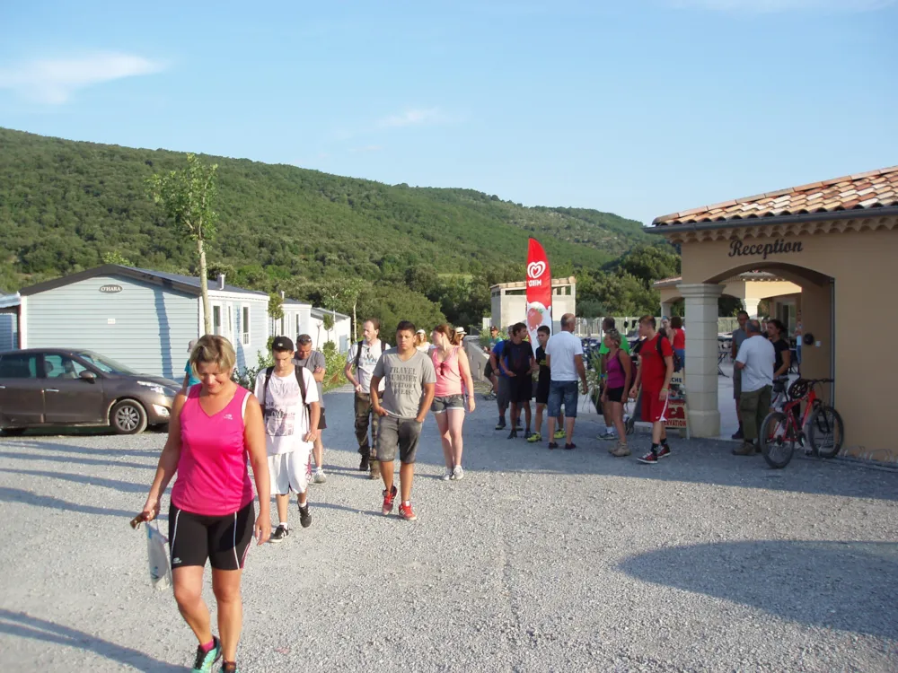
[[[252,538],[261,545],[271,535],[270,489],[265,428],[258,400],[231,380],[236,363],[224,337],[207,335],[190,354],[200,384],[174,401],[168,441],[142,516],[159,515],[165,487],[175,474],[169,509],[174,598],[197,636],[194,670],[236,670],[242,627],[240,581]],[[259,492],[259,517],[247,459]],[[212,634],[202,599],[203,572],[212,565],[212,589],[218,603],[221,641]]]

